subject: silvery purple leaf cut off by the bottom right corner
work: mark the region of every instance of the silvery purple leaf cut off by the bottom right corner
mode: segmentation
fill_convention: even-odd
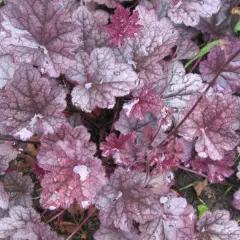
[[[197,222],[197,230],[194,240],[238,240],[240,238],[238,223],[230,220],[230,214],[226,210],[205,212]]]

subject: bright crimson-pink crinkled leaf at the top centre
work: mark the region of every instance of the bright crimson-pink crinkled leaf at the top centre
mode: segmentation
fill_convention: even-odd
[[[120,46],[124,44],[125,38],[134,39],[135,34],[141,29],[141,25],[137,24],[138,20],[137,10],[130,15],[129,9],[119,4],[111,16],[111,23],[105,26],[110,35],[109,43]]]

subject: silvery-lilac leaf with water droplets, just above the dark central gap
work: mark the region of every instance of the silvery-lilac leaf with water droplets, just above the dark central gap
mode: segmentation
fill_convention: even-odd
[[[110,48],[95,48],[90,56],[79,53],[77,58],[78,64],[66,76],[79,83],[72,91],[72,102],[83,111],[113,108],[115,97],[127,95],[136,87],[137,74],[129,65],[116,63]]]

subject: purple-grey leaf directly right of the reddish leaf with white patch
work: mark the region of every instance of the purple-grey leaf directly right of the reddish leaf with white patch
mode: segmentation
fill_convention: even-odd
[[[160,204],[151,190],[144,188],[145,180],[144,173],[115,170],[96,198],[102,224],[129,231],[133,221],[145,223],[159,216]]]

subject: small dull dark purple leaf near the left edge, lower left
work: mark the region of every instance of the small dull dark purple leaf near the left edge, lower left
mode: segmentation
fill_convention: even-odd
[[[5,191],[9,194],[9,205],[22,207],[32,206],[34,184],[29,176],[21,176],[18,172],[6,173],[4,180]]]

